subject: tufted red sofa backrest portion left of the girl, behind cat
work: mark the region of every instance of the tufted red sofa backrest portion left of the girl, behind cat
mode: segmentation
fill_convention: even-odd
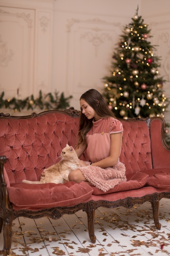
[[[0,118],[0,155],[10,183],[39,180],[44,168],[59,161],[66,144],[77,143],[79,118],[60,112],[28,119]]]

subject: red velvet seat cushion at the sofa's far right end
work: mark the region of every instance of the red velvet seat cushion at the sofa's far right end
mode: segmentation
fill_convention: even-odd
[[[170,189],[170,168],[156,168],[147,171],[146,185],[159,189]]]

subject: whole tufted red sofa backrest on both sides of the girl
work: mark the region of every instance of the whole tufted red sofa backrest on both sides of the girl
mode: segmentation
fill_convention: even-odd
[[[77,144],[79,118],[47,111],[31,118],[0,117],[0,155],[10,183],[39,180],[44,168],[59,161],[66,144]],[[121,120],[124,132],[120,161],[128,173],[152,168],[150,135],[145,121]]]

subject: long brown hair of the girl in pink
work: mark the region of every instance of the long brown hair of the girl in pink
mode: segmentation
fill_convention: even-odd
[[[91,108],[93,108],[99,117],[108,118],[115,117],[113,112],[108,108],[108,105],[102,95],[95,89],[90,89],[87,92],[84,92],[80,99],[84,99]],[[93,118],[87,119],[86,116],[81,112],[80,121],[79,121],[79,138],[77,142],[77,147],[80,144],[84,145],[86,141],[86,134],[93,126]]]

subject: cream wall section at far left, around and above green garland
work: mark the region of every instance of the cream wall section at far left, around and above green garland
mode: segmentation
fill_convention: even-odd
[[[0,92],[7,99],[51,91],[52,25],[53,0],[0,0]]]

